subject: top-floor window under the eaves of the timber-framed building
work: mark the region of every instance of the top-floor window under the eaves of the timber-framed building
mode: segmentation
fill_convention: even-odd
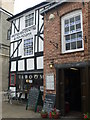
[[[25,27],[31,26],[33,24],[34,24],[34,13],[25,16]]]

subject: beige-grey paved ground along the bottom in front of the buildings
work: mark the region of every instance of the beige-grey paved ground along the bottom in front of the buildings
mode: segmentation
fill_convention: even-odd
[[[10,104],[4,100],[2,100],[2,120],[13,120],[12,118],[15,118],[14,120],[17,120],[17,118],[21,119],[26,118],[25,120],[36,118],[36,120],[41,119],[40,113],[35,113],[32,110],[26,110],[26,104],[21,104],[14,102],[13,104]],[[44,120],[49,120],[44,119]],[[73,116],[65,116],[61,117],[60,120],[82,120],[81,118],[76,117],[76,115]]]

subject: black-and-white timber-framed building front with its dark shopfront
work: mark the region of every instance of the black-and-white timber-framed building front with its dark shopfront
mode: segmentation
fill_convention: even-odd
[[[11,22],[9,89],[12,91],[27,92],[32,86],[43,88],[44,21],[40,12],[52,4],[54,3],[42,2],[7,19]],[[30,14],[33,15],[33,25],[25,26],[25,18]],[[32,51],[26,55],[27,42],[24,42],[30,39]],[[25,94],[23,97],[26,97]]]

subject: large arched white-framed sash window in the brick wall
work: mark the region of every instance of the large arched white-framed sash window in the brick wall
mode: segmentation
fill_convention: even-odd
[[[61,18],[62,53],[83,50],[82,11],[71,12]]]

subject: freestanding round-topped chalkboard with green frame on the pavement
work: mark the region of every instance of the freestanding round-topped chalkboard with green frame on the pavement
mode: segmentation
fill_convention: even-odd
[[[37,103],[38,103],[38,97],[39,97],[39,90],[35,87],[32,87],[29,91],[29,96],[28,96],[28,102],[26,105],[26,110],[33,109],[37,110]]]

